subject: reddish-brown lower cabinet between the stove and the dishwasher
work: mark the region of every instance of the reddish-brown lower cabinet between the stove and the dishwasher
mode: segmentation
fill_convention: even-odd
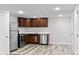
[[[25,37],[26,44],[39,44],[40,36],[38,34],[27,34]]]

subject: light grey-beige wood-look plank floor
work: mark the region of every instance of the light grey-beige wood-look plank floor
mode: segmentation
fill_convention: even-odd
[[[73,55],[70,45],[28,44],[10,53],[11,55]]]

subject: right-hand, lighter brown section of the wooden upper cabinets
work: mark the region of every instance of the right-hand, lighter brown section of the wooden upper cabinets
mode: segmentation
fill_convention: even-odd
[[[47,27],[48,19],[47,18],[34,18],[31,20],[32,27]]]

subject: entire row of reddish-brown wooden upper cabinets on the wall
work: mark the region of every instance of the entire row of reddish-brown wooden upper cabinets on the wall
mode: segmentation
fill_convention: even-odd
[[[23,18],[18,17],[19,27],[47,27],[48,18]]]

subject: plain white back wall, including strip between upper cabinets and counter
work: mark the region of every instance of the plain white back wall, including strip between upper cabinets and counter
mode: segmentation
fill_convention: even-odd
[[[48,19],[48,27],[20,27],[20,32],[50,32],[50,44],[71,44],[71,18],[52,18]]]

